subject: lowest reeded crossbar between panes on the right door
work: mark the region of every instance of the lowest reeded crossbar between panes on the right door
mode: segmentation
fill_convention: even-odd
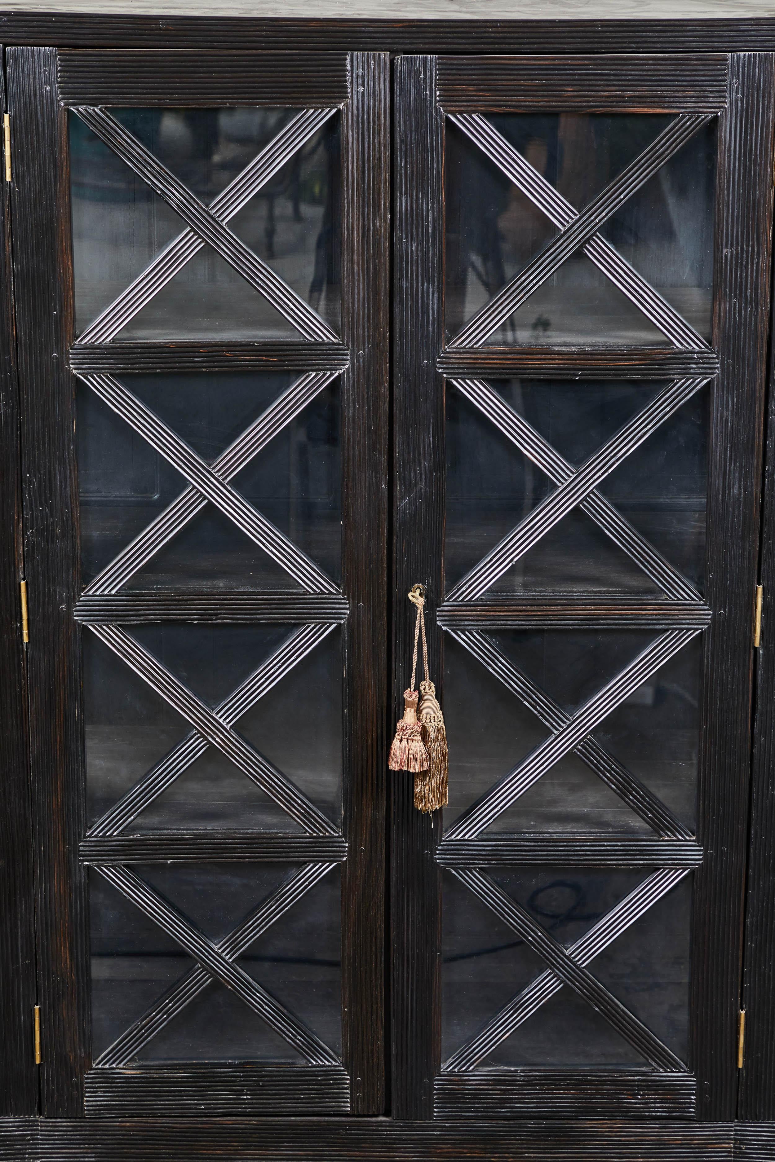
[[[605,835],[497,835],[443,839],[442,867],[675,867],[702,863],[702,847],[689,839],[613,839]]]

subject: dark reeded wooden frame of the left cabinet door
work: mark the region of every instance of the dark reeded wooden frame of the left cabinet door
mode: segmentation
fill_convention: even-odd
[[[127,62],[124,62],[127,63]],[[80,609],[77,589],[76,460],[70,349],[74,338],[70,242],[67,107],[141,103],[288,103],[318,99],[342,110],[342,282],[343,345],[328,352],[344,366],[343,393],[343,591],[345,705],[344,834],[349,859],[343,874],[343,1046],[346,1089],[329,1076],[313,1078],[306,1095],[284,1077],[256,1070],[251,1112],[299,1105],[310,1112],[323,1102],[330,1112],[379,1114],[385,1110],[383,935],[385,935],[385,705],[386,675],[386,469],[389,239],[389,71],[382,53],[210,57],[202,83],[202,53],[170,58],[149,53],[151,65],[138,89],[137,58],[122,73],[121,53],[59,53],[55,49],[9,51],[9,108],[15,139],[23,143],[14,164],[15,287],[22,390],[22,458],[26,490],[26,566],[30,619],[28,647],[31,723],[35,891],[38,928],[37,988],[42,1011],[41,1089],[45,1117],[79,1117],[84,1069],[89,1061],[87,901],[82,716],[80,710],[81,621],[106,611]],[[260,70],[256,70],[256,64]],[[192,70],[195,72],[192,73]],[[186,93],[186,83],[194,85]],[[236,83],[244,83],[232,98]],[[336,346],[336,345],[335,345]],[[202,350],[204,349],[204,359]],[[107,344],[78,352],[79,370],[196,371],[261,366],[306,367],[304,344]],[[311,356],[313,360],[316,358]],[[86,359],[86,364],[82,360]],[[91,363],[89,363],[91,360]],[[139,363],[138,363],[139,360]],[[209,360],[209,363],[208,363]],[[211,366],[210,366],[211,365]],[[88,605],[88,602],[86,603]],[[152,602],[151,602],[152,604]],[[120,619],[159,618],[151,604],[129,600]],[[265,605],[267,603],[264,603]],[[303,604],[303,601],[302,601]],[[313,603],[314,604],[314,603]],[[202,605],[200,602],[199,605]],[[228,597],[181,602],[182,619],[244,622],[290,617],[288,598],[247,602],[235,611]],[[272,608],[268,608],[272,607]],[[349,612],[347,612],[349,608]],[[116,612],[114,609],[113,614]],[[113,621],[113,614],[107,615]],[[301,612],[301,621],[315,619]],[[299,618],[295,618],[299,621]],[[320,617],[317,617],[320,621]],[[131,846],[131,845],[130,845]],[[290,845],[293,846],[293,845]],[[170,854],[170,853],[167,853]],[[241,858],[239,853],[236,853]],[[247,853],[243,853],[244,858]],[[278,844],[273,855],[278,858]],[[256,855],[256,853],[253,853]],[[137,856],[137,853],[135,853]],[[159,858],[165,858],[164,852]],[[218,856],[225,858],[223,854]],[[280,854],[280,858],[281,854]],[[286,853],[286,858],[292,858]],[[295,856],[297,858],[297,856]],[[315,856],[311,856],[313,859]],[[339,856],[340,858],[340,856]],[[130,1107],[168,1107],[172,1076],[94,1078],[91,1109],[110,1116]],[[109,1073],[106,1071],[106,1073]],[[172,1070],[174,1073],[174,1070]],[[271,1070],[270,1070],[271,1073]],[[277,1073],[277,1070],[275,1070]],[[245,1085],[234,1067],[218,1071],[221,1093],[234,1110],[249,1112]],[[315,1070],[309,1070],[310,1077]],[[260,1076],[259,1076],[260,1075]],[[122,1083],[123,1078],[123,1083]],[[201,1109],[209,1082],[177,1078],[179,1113]],[[225,1090],[222,1086],[225,1085]],[[309,1088],[311,1085],[311,1089]],[[129,1089],[127,1088],[129,1086]],[[180,1104],[182,1102],[182,1105]],[[137,1106],[137,1103],[139,1105]],[[228,1107],[215,1100],[217,1112]],[[215,1109],[215,1107],[214,1107]]]

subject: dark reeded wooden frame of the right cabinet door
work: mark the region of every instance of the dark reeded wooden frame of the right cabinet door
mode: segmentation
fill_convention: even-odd
[[[508,81],[503,83],[505,58],[396,60],[394,591],[397,607],[393,626],[396,709],[411,633],[411,619],[400,601],[401,594],[421,581],[435,610],[444,593],[444,374],[534,375],[543,368],[544,374],[562,375],[565,371],[594,375],[595,366],[605,365],[609,373],[616,367],[616,357],[609,351],[574,352],[566,357],[562,352],[532,350],[524,354],[519,366],[519,358],[504,356],[503,349],[444,350],[443,109],[586,106],[596,112],[610,107],[681,112],[718,99],[711,57],[694,57],[690,67],[689,58],[681,64],[680,58],[669,56],[651,60],[633,56],[626,58],[626,64],[623,62],[622,57],[610,58],[605,95],[603,58],[575,57],[572,65],[566,58],[565,92],[555,100],[551,94],[552,59],[547,57],[532,58],[528,87],[521,83],[514,91]],[[515,77],[518,72],[517,67]],[[533,80],[534,92],[530,87]],[[596,86],[600,86],[597,94]],[[731,55],[723,105],[712,329],[719,374],[712,390],[708,494],[708,560],[713,567],[706,573],[705,598],[712,621],[704,658],[697,822],[697,841],[705,858],[695,874],[693,906],[690,1068],[697,1083],[696,1116],[703,1120],[732,1119],[737,1104],[752,617],[768,336],[773,57]],[[759,303],[761,309],[754,315],[746,310],[746,303]],[[661,374],[688,373],[675,366],[676,356],[680,364],[680,353],[663,353],[666,365]],[[622,368],[618,374],[627,378],[656,373],[656,365],[652,364],[640,373],[631,365],[626,373]],[[739,545],[740,552],[725,551],[730,545]],[[503,616],[503,611],[498,615],[495,609],[496,602],[488,604],[493,608],[478,615],[482,621]],[[450,611],[446,616],[454,615]],[[579,625],[584,616],[580,609]],[[443,634],[436,618],[432,622],[431,672],[440,676]],[[399,869],[392,881],[395,1114],[431,1118],[436,1104],[442,1117],[452,1109],[459,1116],[466,1102],[469,1116],[480,1118],[548,1112],[567,1116],[577,1110],[582,1100],[577,1085],[567,1088],[567,1083],[558,1082],[551,1092],[525,1093],[517,1104],[514,1097],[509,1098],[505,1082],[488,1081],[486,1074],[478,1078],[467,1098],[462,1091],[455,1091],[447,1104],[438,1085],[435,1098],[435,1078],[440,1070],[440,868],[435,861],[435,848],[440,826],[438,818],[431,825],[428,817],[414,811],[410,780],[401,775],[394,779],[393,827],[393,868]],[[711,964],[712,975],[705,971]],[[545,1071],[541,1074],[545,1076]],[[607,1100],[601,1091],[593,1092],[590,1099],[591,1104],[584,1106],[588,1116],[618,1116],[619,1098]],[[659,1109],[655,1095],[650,1098],[645,1092],[641,1102],[644,1116],[666,1112],[665,1107]],[[634,1107],[638,1105],[636,1102]]]

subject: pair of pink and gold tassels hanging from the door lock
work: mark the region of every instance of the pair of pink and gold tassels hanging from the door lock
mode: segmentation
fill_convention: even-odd
[[[428,641],[425,640],[425,590],[415,586],[409,601],[417,608],[415,652],[411,659],[411,682],[403,695],[403,718],[396,726],[390,747],[390,770],[409,770],[415,775],[415,806],[430,812],[445,806],[447,794],[447,745],[442,708],[436,687],[428,676]],[[415,689],[419,639],[423,643],[423,674],[419,694]],[[417,702],[419,700],[419,708]]]

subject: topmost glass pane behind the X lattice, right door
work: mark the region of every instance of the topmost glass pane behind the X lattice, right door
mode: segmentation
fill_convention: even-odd
[[[498,114],[493,127],[582,210],[670,123],[653,114]],[[629,199],[601,231],[699,333],[710,335],[715,125]],[[446,331],[452,339],[559,230],[461,130],[446,125]],[[576,252],[487,339],[490,344],[667,344]]]

